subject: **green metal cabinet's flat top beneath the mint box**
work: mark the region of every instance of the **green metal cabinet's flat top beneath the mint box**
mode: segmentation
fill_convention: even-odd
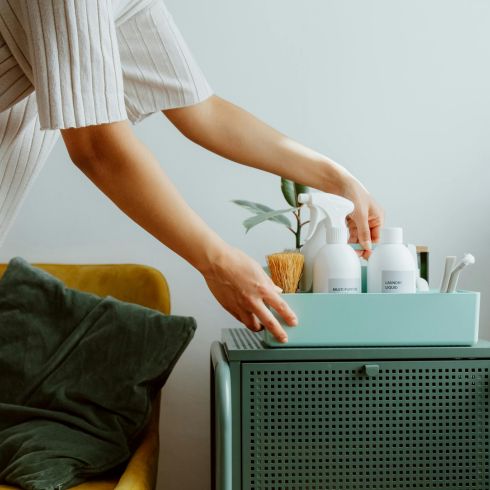
[[[229,361],[333,361],[349,359],[490,359],[490,341],[471,347],[267,347],[260,333],[245,328],[222,330]]]

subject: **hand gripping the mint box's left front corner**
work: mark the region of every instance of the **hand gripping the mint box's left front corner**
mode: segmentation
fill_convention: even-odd
[[[266,305],[289,326],[297,324],[296,315],[257,262],[241,250],[227,247],[203,276],[221,306],[249,330],[258,332],[263,325],[279,342],[287,342],[286,332]]]

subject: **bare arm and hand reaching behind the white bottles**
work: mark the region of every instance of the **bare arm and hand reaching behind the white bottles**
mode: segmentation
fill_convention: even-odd
[[[364,255],[369,255],[371,240],[378,239],[382,211],[344,167],[217,96],[164,114],[186,137],[214,153],[353,201],[351,240],[359,241]]]

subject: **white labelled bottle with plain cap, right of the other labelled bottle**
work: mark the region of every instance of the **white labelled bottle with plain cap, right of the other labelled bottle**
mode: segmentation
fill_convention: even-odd
[[[416,265],[403,244],[402,228],[382,228],[368,261],[368,293],[415,293]]]

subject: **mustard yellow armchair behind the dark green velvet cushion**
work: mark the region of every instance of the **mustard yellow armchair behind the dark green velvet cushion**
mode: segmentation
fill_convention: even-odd
[[[73,265],[34,264],[61,279],[68,287],[99,296],[137,303],[170,313],[170,293],[161,272],[143,265]],[[6,264],[0,264],[0,277]],[[160,396],[153,403],[153,413],[140,446],[132,455],[121,475],[104,480],[91,480],[76,490],[153,490],[156,484],[159,453]],[[17,490],[2,485],[0,490]]]

